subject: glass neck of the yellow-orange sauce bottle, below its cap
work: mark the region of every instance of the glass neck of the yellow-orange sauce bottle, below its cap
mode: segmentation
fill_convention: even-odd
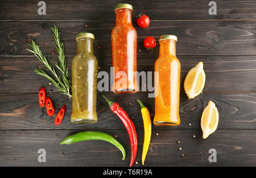
[[[172,55],[176,56],[176,41],[175,40],[161,40],[159,56]]]

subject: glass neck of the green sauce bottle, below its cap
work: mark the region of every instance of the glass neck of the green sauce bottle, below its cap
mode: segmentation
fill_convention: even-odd
[[[80,38],[77,40],[77,53],[93,53],[93,39]]]

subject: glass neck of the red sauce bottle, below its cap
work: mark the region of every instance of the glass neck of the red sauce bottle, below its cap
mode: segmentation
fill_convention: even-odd
[[[116,10],[115,24],[131,24],[131,10],[130,9]]]

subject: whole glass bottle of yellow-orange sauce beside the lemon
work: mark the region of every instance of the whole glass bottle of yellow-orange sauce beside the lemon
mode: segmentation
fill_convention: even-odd
[[[179,125],[180,61],[176,57],[177,37],[159,37],[159,58],[155,62],[155,125]]]

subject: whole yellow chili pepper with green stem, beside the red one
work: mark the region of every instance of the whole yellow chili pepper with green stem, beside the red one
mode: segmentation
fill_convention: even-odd
[[[150,138],[151,138],[151,118],[148,109],[141,103],[140,100],[137,100],[141,105],[141,114],[143,118],[144,124],[144,144],[143,144],[143,151],[142,151],[142,165],[144,165],[144,160],[147,155],[148,146],[150,145]]]

